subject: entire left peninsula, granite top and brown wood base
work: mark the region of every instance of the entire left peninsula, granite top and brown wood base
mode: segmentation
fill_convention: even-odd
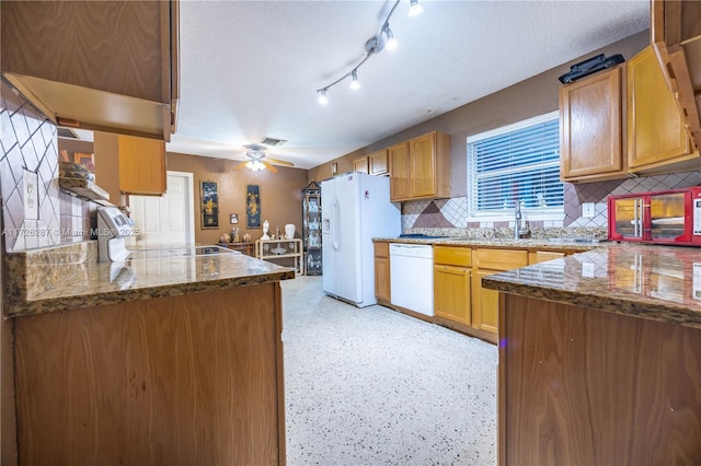
[[[285,464],[295,271],[235,252],[95,257],[94,242],[5,256],[20,463]]]

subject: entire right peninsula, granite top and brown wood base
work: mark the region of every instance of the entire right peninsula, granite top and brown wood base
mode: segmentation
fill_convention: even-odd
[[[612,244],[483,286],[499,465],[701,464],[701,249]]]

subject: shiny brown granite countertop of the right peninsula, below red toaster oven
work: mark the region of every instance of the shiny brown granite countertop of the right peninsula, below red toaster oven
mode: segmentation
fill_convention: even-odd
[[[701,248],[608,244],[486,276],[484,288],[701,328]]]

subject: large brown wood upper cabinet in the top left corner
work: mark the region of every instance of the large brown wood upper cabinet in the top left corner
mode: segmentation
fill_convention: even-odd
[[[170,140],[176,1],[3,1],[2,73],[60,126]]]

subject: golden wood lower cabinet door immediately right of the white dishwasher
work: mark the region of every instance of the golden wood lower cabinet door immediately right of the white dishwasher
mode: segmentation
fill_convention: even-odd
[[[471,324],[470,269],[434,266],[434,312],[460,324]]]

